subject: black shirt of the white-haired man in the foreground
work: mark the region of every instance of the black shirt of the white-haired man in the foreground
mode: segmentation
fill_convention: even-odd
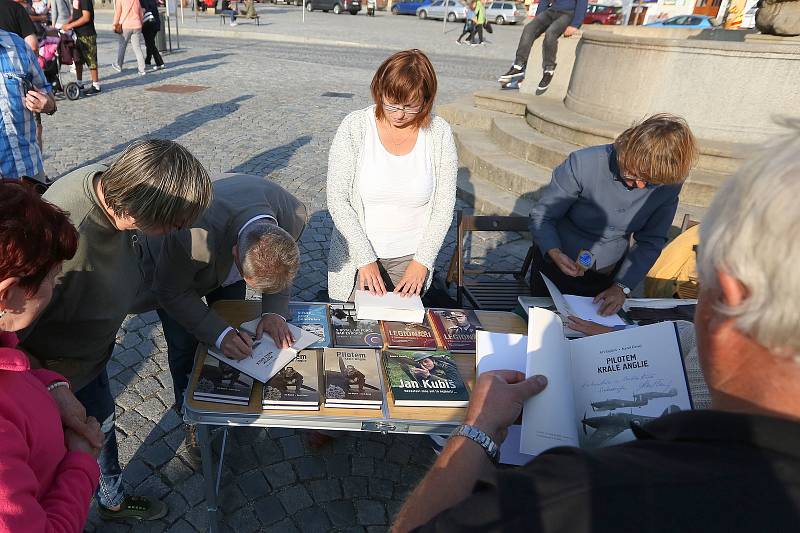
[[[800,423],[691,411],[633,430],[634,442],[497,470],[417,531],[800,531]]]

